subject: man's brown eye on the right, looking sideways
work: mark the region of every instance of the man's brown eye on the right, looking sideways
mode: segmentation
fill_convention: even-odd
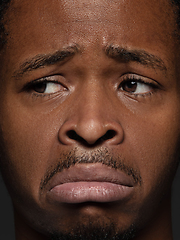
[[[135,76],[129,76],[124,78],[122,83],[120,84],[120,89],[122,91],[125,91],[127,93],[131,94],[147,94],[153,91],[154,88],[157,88],[157,86],[152,83],[144,80],[140,77]]]

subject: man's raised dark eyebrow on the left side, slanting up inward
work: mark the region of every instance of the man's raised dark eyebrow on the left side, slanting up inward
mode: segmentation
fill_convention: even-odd
[[[38,54],[22,63],[19,69],[14,73],[14,77],[18,78],[27,72],[43,68],[45,66],[54,65],[59,62],[65,62],[68,58],[71,58],[79,52],[80,48],[78,45],[73,45],[63,48],[62,50],[58,50],[52,54]]]

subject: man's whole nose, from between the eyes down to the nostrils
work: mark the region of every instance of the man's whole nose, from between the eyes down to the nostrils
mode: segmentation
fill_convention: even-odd
[[[123,131],[113,115],[113,106],[106,86],[96,81],[84,84],[74,96],[68,119],[61,126],[59,140],[63,144],[102,142],[119,144]]]

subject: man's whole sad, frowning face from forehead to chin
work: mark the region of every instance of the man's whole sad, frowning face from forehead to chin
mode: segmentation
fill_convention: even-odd
[[[15,0],[6,18],[1,168],[17,221],[122,233],[162,215],[180,137],[167,1]]]

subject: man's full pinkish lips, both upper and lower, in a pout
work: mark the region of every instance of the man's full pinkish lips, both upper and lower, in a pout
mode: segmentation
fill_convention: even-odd
[[[48,184],[51,203],[114,202],[134,190],[131,176],[101,163],[77,164],[54,175]]]

